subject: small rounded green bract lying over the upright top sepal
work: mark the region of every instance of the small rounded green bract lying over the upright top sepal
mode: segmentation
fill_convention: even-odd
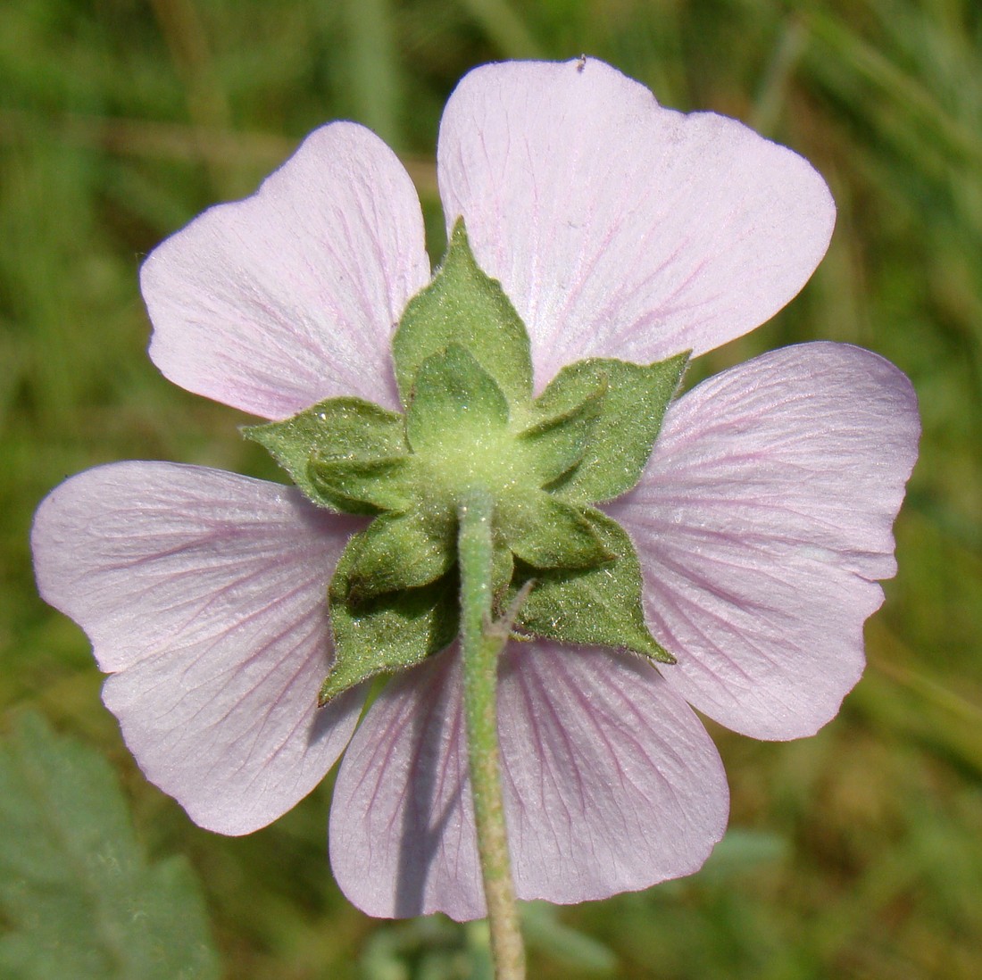
[[[416,372],[406,412],[406,434],[414,453],[451,457],[462,450],[484,457],[495,447],[488,436],[504,434],[508,402],[490,373],[459,344],[427,357]]]

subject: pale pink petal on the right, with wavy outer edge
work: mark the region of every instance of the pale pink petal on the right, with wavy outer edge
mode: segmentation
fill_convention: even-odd
[[[668,411],[638,486],[605,505],[637,548],[670,683],[757,738],[811,735],[863,669],[896,572],[917,453],[909,381],[877,354],[805,344],[703,382]]]

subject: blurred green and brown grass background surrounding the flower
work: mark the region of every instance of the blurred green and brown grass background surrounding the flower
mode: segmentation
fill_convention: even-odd
[[[681,109],[788,143],[839,225],[804,293],[701,359],[819,338],[885,354],[920,397],[900,573],[870,667],[814,738],[714,730],[733,787],[706,869],[647,893],[528,908],[532,975],[982,975],[982,6],[976,0],[7,0],[0,7],[0,710],[35,710],[123,782],[140,846],[200,878],[224,975],[486,976],[480,927],[373,921],[326,860],[330,787],[241,840],[148,786],[81,631],[36,597],[40,498],[96,463],[272,476],[245,421],[161,378],[136,272],[338,117],[394,145],[443,247],[433,150],[472,66],[587,52]],[[693,378],[696,374],[693,374]],[[328,781],[329,783],[330,781]],[[652,833],[658,833],[652,828]],[[0,926],[4,919],[0,915]],[[98,978],[94,978],[98,980]]]

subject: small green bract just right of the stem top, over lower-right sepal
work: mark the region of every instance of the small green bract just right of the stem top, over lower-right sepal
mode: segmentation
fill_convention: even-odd
[[[617,557],[580,509],[542,490],[513,491],[496,519],[515,556],[536,569],[587,569]]]

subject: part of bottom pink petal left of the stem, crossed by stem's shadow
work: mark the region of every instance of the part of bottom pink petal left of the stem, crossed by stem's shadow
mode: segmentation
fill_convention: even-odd
[[[393,679],[368,710],[334,785],[330,849],[369,915],[484,915],[456,653]]]

